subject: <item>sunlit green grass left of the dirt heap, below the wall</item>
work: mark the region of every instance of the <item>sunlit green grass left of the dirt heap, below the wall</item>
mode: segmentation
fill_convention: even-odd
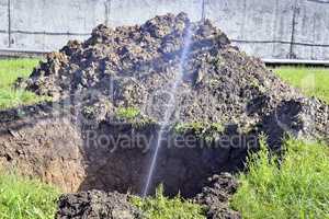
[[[46,97],[35,95],[33,92],[14,90],[12,88],[19,77],[27,78],[38,61],[38,59],[0,60],[0,110],[47,100]]]

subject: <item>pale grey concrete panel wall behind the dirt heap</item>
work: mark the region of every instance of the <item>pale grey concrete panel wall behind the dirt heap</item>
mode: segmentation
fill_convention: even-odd
[[[56,50],[100,24],[185,11],[262,58],[329,59],[329,0],[0,0],[0,49]]]

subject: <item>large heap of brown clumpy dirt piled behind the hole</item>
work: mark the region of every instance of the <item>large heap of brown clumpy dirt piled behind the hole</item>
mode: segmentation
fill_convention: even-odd
[[[231,46],[209,21],[192,23],[184,13],[156,16],[140,26],[100,25],[88,41],[69,42],[60,53],[50,54],[21,85],[54,100],[70,100],[97,122],[115,119],[117,108],[136,107],[144,118],[159,123],[180,71],[188,30],[193,33],[191,53],[172,122],[234,124],[240,132],[270,135],[276,146],[282,130],[328,134],[326,123],[306,122],[307,116],[327,122],[326,105],[304,99],[262,61]],[[294,106],[286,107],[287,103]],[[294,124],[287,124],[292,119]]]

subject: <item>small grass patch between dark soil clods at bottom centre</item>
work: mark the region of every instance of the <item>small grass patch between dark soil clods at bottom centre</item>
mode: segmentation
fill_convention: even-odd
[[[155,197],[133,197],[132,204],[145,214],[146,219],[205,219],[204,209],[196,204],[183,200],[180,196],[169,199],[159,186]]]

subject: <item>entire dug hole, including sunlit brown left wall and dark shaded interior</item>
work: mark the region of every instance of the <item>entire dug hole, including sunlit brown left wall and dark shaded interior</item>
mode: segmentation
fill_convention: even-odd
[[[18,117],[16,111],[0,114],[2,166],[41,177],[64,193],[100,189],[141,194],[159,125],[100,122],[89,126],[52,107],[23,111],[23,117]],[[214,174],[243,169],[248,147],[258,142],[254,136],[226,127],[217,141],[206,143],[193,132],[179,135],[172,129],[163,138],[150,192],[163,184],[168,196],[180,193],[194,197]],[[9,157],[12,159],[5,159]]]

